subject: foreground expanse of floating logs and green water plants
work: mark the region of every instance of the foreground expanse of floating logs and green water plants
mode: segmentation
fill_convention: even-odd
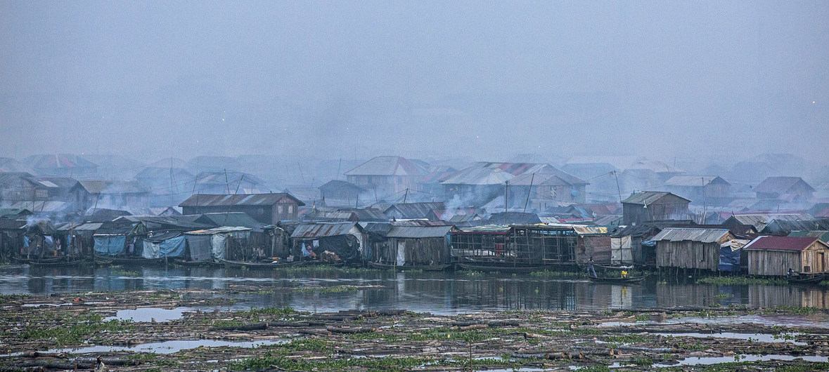
[[[0,370],[90,369],[98,356],[145,371],[829,369],[827,313],[811,308],[239,310],[259,290],[0,296]],[[756,321],[775,317],[797,322]]]

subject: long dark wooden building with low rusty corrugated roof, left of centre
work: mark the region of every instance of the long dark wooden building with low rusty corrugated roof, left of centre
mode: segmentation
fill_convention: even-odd
[[[245,212],[266,225],[279,221],[296,221],[300,206],[305,205],[289,193],[195,194],[179,204],[182,213]]]

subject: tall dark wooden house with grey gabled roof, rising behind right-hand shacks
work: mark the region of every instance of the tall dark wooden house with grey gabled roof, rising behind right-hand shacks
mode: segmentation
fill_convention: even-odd
[[[648,221],[690,219],[690,200],[673,193],[643,191],[622,201],[623,225]]]

